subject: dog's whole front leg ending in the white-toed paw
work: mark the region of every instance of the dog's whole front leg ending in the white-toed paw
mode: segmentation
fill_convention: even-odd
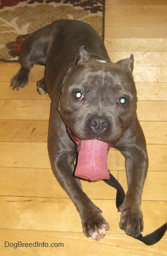
[[[76,148],[66,132],[65,124],[61,122],[61,117],[56,115],[54,103],[52,102],[48,137],[52,171],[79,211],[84,234],[99,240],[104,237],[106,230],[109,230],[109,224],[100,209],[84,193],[79,178],[73,175]]]

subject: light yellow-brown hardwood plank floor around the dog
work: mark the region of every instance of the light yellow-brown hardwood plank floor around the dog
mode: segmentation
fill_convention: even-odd
[[[135,56],[137,114],[149,156],[141,204],[143,234],[148,234],[167,221],[167,0],[105,0],[105,45],[113,62]],[[26,88],[12,91],[10,78],[18,69],[17,63],[0,63],[0,254],[167,255],[167,233],[147,246],[119,228],[115,190],[103,181],[82,184],[102,209],[110,231],[99,242],[84,236],[79,213],[50,167],[51,101],[36,92],[43,67],[31,70]],[[126,190],[124,158],[114,149],[108,167]],[[13,246],[18,241],[45,244],[14,248],[5,241]],[[49,247],[51,243],[55,247]]]

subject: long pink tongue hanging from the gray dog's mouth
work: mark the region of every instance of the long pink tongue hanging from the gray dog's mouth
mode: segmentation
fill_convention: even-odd
[[[74,175],[91,181],[109,179],[107,147],[106,142],[99,140],[81,141]]]

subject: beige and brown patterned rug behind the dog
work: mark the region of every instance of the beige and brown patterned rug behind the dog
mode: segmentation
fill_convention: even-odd
[[[0,61],[18,61],[28,34],[61,19],[87,22],[104,38],[104,0],[0,0]]]

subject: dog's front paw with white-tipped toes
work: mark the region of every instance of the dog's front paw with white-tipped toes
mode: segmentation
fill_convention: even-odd
[[[86,211],[82,218],[83,232],[94,240],[100,240],[109,230],[109,224],[105,221],[100,211],[97,209],[93,211]]]

